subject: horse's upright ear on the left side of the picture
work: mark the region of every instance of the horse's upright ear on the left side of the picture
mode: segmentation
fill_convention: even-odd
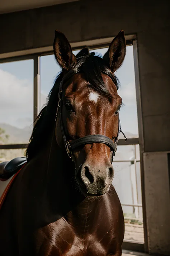
[[[56,30],[53,49],[57,63],[63,69],[70,69],[76,64],[76,57],[72,53],[71,45],[63,33]]]

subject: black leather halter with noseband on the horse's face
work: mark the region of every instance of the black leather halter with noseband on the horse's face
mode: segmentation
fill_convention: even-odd
[[[56,119],[58,116],[58,112],[60,112],[60,126],[61,126],[61,132],[62,132],[62,136],[63,136],[63,140],[64,140],[64,144],[65,144],[65,148],[67,151],[68,156],[71,158],[72,156],[72,151],[74,151],[76,148],[82,146],[82,145],[86,145],[86,144],[93,144],[93,143],[102,143],[107,145],[110,148],[110,152],[112,152],[112,159],[111,159],[111,163],[113,162],[113,157],[115,156],[115,152],[117,150],[117,143],[118,143],[118,139],[119,139],[119,133],[122,133],[124,135],[124,133],[122,132],[121,129],[121,122],[119,119],[119,126],[118,126],[118,133],[117,136],[113,140],[111,140],[109,137],[101,135],[101,134],[94,134],[94,135],[87,135],[84,136],[82,138],[73,140],[71,143],[69,143],[66,139],[66,135],[63,129],[63,122],[62,122],[62,109],[61,109],[61,102],[62,102],[62,85],[63,85],[63,80],[60,83],[60,88],[59,88],[59,93],[58,93],[58,106],[57,106],[57,113],[56,113]],[[127,140],[126,136],[124,135],[125,141]]]

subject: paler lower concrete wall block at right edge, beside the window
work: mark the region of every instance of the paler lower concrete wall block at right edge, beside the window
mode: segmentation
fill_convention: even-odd
[[[165,152],[143,154],[148,246],[152,253],[170,255],[170,189]]]

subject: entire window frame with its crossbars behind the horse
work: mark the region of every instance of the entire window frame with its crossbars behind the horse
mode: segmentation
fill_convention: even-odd
[[[114,37],[93,39],[82,42],[72,42],[72,50],[81,50],[82,47],[88,46],[90,50],[96,50],[101,48],[107,48]],[[123,249],[134,250],[140,252],[148,252],[148,240],[147,240],[147,225],[146,225],[146,206],[145,206],[145,186],[144,186],[144,171],[142,156],[144,152],[143,141],[143,121],[142,121],[142,108],[141,108],[141,93],[140,93],[140,76],[138,68],[138,50],[137,50],[137,37],[136,35],[127,35],[127,46],[133,46],[134,57],[134,73],[135,73],[135,85],[136,85],[136,100],[137,100],[137,117],[138,117],[138,138],[128,138],[127,142],[124,139],[119,139],[118,145],[135,145],[139,144],[140,147],[140,168],[141,168],[141,193],[142,193],[142,209],[143,209],[143,230],[145,243],[126,241],[123,242]],[[33,84],[33,118],[36,120],[40,111],[40,57],[53,54],[53,46],[47,46],[42,48],[28,49],[22,51],[16,51],[11,53],[0,54],[0,63],[13,62],[17,60],[33,59],[34,64],[34,84]],[[20,149],[27,148],[28,144],[4,144],[0,145],[0,149]]]

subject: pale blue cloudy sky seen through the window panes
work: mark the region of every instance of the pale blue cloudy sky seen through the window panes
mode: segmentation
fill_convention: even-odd
[[[107,49],[95,52],[104,54]],[[41,107],[46,102],[59,71],[54,55],[40,58]],[[133,46],[127,46],[123,65],[115,75],[121,82],[118,93],[123,100],[119,112],[122,130],[138,136]],[[30,126],[33,122],[32,59],[0,64],[0,123],[2,122],[19,128]]]

